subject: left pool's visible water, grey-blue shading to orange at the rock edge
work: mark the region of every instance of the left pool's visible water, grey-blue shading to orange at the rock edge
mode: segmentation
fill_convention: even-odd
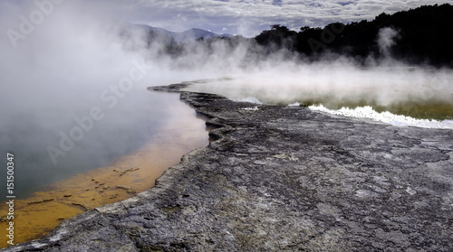
[[[135,99],[136,107],[130,111],[128,106],[121,107],[116,111],[121,117],[106,116],[86,142],[77,143],[56,167],[45,145],[41,145],[44,152],[26,149],[26,143],[10,145],[18,197],[14,202],[15,243],[42,238],[63,219],[148,190],[183,154],[208,144],[205,121],[179,101],[177,94],[142,91]],[[25,134],[33,140],[42,130],[28,128],[31,132],[26,126],[11,131],[19,135],[10,138],[21,139]],[[5,219],[5,202],[0,212]],[[0,222],[0,229],[5,237],[6,221]],[[0,247],[5,242],[2,239]]]

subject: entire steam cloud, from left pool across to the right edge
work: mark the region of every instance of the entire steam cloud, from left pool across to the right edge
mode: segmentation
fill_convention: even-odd
[[[1,31],[20,30],[20,17],[29,18],[37,9],[33,2],[25,3],[0,2]],[[208,47],[191,43],[175,56],[166,53],[164,44],[149,45],[143,31],[128,30],[128,24],[116,20],[108,5],[99,3],[55,4],[53,11],[34,26],[32,33],[16,41],[16,48],[6,33],[0,37],[0,152],[14,151],[19,156],[27,148],[29,156],[24,158],[28,163],[24,165],[34,163],[30,170],[39,171],[47,167],[48,176],[56,168],[46,147],[56,147],[59,133],[68,134],[75,125],[74,117],[86,117],[92,107],[101,107],[105,117],[93,126],[92,133],[87,133],[90,137],[84,137],[62,157],[62,165],[82,163],[81,159],[91,162],[99,156],[108,160],[111,153],[124,153],[127,148],[111,145],[109,139],[140,126],[139,132],[145,132],[149,124],[158,126],[158,118],[145,115],[165,107],[163,104],[170,105],[168,98],[161,98],[163,95],[149,95],[149,86],[228,77],[232,79],[193,89],[285,104],[306,100],[383,106],[408,101],[453,103],[451,70],[413,68],[391,60],[390,48],[398,36],[391,28],[381,30],[377,37],[389,57],[383,61],[369,59],[364,67],[338,55],[326,54],[314,63],[288,51],[263,56],[246,40],[234,47],[226,41]],[[130,91],[123,91],[123,98],[117,97],[116,106],[108,108],[101,94],[129,76],[134,61],[145,62],[149,72],[134,82]],[[126,136],[114,143],[127,142]],[[84,158],[87,153],[89,158]],[[39,158],[43,156],[45,160]]]

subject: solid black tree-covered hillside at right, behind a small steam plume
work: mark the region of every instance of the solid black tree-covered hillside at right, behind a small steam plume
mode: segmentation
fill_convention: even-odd
[[[308,56],[330,51],[364,60],[386,56],[378,42],[380,30],[386,27],[398,33],[390,47],[393,58],[453,67],[453,6],[448,4],[380,14],[372,21],[331,23],[323,29],[304,26],[299,33],[273,25],[255,41],[267,48],[285,48]]]

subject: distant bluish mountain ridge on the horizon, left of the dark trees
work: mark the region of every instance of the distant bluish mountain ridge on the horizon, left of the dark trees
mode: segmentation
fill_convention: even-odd
[[[189,29],[185,32],[182,33],[175,33],[175,32],[170,32],[166,29],[160,28],[160,27],[153,27],[145,24],[132,24],[134,27],[140,28],[140,29],[146,29],[147,31],[151,33],[155,33],[156,35],[162,36],[168,40],[172,39],[174,42],[190,42],[190,41],[196,41],[198,39],[210,39],[214,37],[226,37],[230,38],[233,37],[232,34],[217,34],[217,33],[212,33],[203,29],[198,29],[198,28],[192,28]]]

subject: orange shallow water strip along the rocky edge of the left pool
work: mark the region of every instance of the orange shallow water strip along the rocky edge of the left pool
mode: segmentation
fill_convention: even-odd
[[[115,156],[104,165],[79,173],[73,171],[62,180],[32,186],[26,196],[14,201],[14,243],[43,238],[64,219],[148,190],[165,170],[179,163],[183,154],[208,144],[205,121],[188,105],[178,101],[178,95],[154,95],[167,98],[171,109],[160,108],[166,113],[159,113],[159,124],[149,125],[152,134],[143,135],[144,144],[137,141],[138,147]],[[143,131],[138,133],[143,134]],[[16,154],[15,160],[20,158],[21,155]],[[40,168],[34,169],[39,171]],[[23,172],[16,166],[15,173]],[[33,173],[28,175],[33,179]],[[6,207],[5,202],[0,205],[0,218],[4,220]],[[4,237],[6,224],[7,221],[0,222]],[[5,247],[6,239],[2,240],[0,247]]]

